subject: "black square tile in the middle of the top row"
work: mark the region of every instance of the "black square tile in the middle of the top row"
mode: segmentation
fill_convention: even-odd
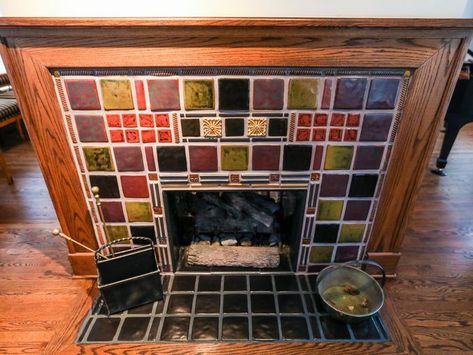
[[[248,110],[250,81],[248,79],[219,79],[220,110]]]

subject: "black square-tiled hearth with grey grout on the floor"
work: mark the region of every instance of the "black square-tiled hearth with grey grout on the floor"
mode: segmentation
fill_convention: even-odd
[[[357,324],[329,318],[314,275],[182,274],[163,277],[164,300],[107,316],[97,299],[77,343],[386,342],[378,315]]]

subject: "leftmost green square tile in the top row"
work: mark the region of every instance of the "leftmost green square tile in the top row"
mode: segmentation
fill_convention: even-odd
[[[103,107],[106,110],[132,110],[130,80],[100,80]]]

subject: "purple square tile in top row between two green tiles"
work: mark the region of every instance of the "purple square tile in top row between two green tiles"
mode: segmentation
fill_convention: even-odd
[[[176,79],[148,80],[152,111],[179,110],[179,81]]]

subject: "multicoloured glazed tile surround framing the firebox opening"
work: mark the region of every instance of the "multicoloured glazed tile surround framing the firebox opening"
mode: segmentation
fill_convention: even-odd
[[[306,189],[296,271],[365,253],[404,71],[60,69],[54,82],[94,220],[97,185],[111,238],[152,237],[163,271],[166,189]]]

